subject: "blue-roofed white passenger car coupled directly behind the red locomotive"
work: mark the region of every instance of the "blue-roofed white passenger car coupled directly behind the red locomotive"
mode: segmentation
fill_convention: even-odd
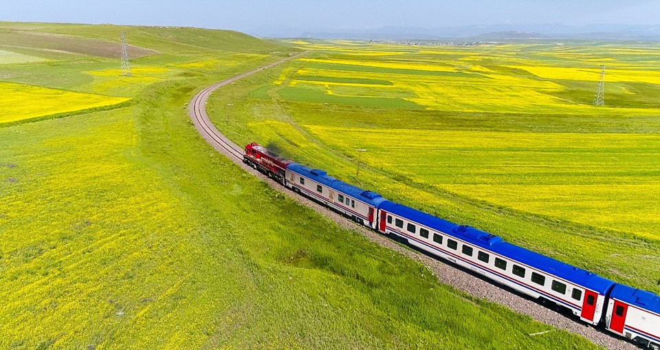
[[[287,166],[286,186],[370,228],[376,228],[377,193],[328,176],[325,171],[292,163]]]

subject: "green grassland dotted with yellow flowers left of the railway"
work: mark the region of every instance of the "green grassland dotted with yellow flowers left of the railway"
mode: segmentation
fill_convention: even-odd
[[[120,30],[152,53],[130,78],[105,51],[42,38]],[[190,98],[287,47],[188,28],[0,23],[17,31],[28,32],[17,54],[47,61],[0,64],[1,83],[131,100],[0,124],[0,348],[595,348],[564,331],[528,336],[551,327],[439,284],[211,149]]]

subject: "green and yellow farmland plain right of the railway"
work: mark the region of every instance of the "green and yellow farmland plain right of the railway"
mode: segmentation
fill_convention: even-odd
[[[660,294],[660,47],[294,44],[210,103],[231,138]]]

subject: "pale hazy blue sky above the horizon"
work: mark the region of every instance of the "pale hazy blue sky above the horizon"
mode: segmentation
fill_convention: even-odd
[[[0,21],[259,28],[441,28],[478,24],[660,24],[660,0],[5,0]]]

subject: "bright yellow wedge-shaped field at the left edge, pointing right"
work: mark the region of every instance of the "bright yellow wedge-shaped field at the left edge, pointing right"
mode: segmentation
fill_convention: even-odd
[[[0,96],[0,123],[105,107],[129,100],[14,83],[0,83]]]

